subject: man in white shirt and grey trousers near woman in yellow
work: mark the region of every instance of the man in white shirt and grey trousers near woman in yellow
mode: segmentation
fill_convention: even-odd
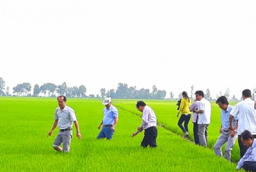
[[[208,126],[211,123],[211,102],[204,98],[203,91],[196,91],[196,100],[199,100],[198,114],[198,137],[199,144],[206,147],[208,142]]]

